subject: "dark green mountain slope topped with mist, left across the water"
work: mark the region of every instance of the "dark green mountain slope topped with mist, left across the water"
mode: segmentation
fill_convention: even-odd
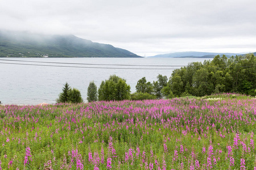
[[[74,35],[0,31],[0,57],[141,57]]]

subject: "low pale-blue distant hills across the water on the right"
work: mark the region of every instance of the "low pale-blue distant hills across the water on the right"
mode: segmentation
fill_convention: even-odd
[[[243,55],[239,53],[208,53],[208,52],[177,52],[168,54],[159,54],[156,56],[151,56],[149,58],[214,58],[217,55],[225,55],[226,57]]]

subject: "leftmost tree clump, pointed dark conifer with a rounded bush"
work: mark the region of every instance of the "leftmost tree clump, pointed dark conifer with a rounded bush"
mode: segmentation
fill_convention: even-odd
[[[62,89],[62,92],[59,94],[59,98],[56,99],[57,103],[82,103],[82,97],[79,90],[76,88],[69,87],[69,84],[66,82]]]

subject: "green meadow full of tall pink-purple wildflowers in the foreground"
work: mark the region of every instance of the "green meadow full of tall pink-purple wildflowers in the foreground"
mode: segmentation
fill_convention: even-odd
[[[0,106],[0,169],[256,169],[256,100]]]

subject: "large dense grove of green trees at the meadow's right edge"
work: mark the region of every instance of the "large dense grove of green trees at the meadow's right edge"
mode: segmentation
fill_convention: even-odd
[[[256,59],[253,54],[230,57],[216,56],[212,61],[192,62],[173,71],[170,91],[174,96],[191,94],[204,96],[222,92],[254,95],[256,89]],[[168,87],[169,88],[169,87]],[[168,90],[163,90],[164,96]]]

